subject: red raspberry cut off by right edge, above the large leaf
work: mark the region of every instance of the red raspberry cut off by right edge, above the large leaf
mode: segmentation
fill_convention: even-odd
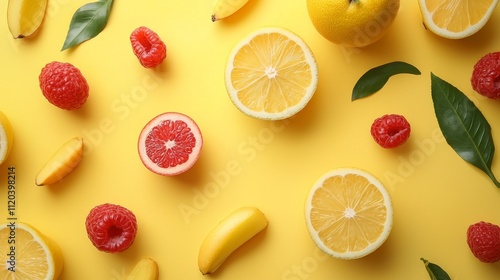
[[[492,99],[500,98],[500,52],[489,53],[476,62],[471,84],[481,95]]]

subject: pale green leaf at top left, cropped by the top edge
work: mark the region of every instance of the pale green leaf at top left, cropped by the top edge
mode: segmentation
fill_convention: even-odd
[[[113,0],[88,3],[76,10],[61,51],[94,38],[106,27]]]

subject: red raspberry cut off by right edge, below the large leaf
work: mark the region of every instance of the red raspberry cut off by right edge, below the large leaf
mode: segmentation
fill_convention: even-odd
[[[467,229],[467,244],[480,261],[493,263],[500,260],[500,227],[478,222]]]

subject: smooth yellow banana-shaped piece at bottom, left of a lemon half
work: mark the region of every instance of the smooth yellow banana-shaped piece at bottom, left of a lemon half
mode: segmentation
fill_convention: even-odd
[[[266,216],[255,207],[242,207],[219,222],[205,237],[198,254],[198,267],[209,274],[245,242],[267,227]]]

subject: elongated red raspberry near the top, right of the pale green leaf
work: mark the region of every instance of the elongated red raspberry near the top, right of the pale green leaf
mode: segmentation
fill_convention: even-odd
[[[167,47],[151,29],[141,26],[130,35],[132,50],[142,66],[155,68],[167,57]]]

